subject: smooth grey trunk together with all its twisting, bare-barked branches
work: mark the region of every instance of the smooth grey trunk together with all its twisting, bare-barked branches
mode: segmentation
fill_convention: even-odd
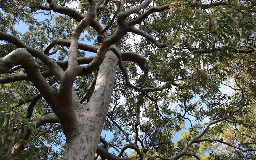
[[[39,9],[48,10],[48,11],[53,10],[55,12],[68,15],[74,18],[75,20],[77,20],[78,22],[80,22],[75,32],[72,35],[71,42],[57,40],[58,43],[62,43],[60,45],[70,46],[69,58],[67,62],[56,62],[47,56],[49,55],[49,50],[54,46],[53,41],[52,41],[52,44],[49,44],[49,46],[47,46],[44,52],[41,52],[39,50],[36,50],[34,48],[31,48],[25,45],[19,39],[17,39],[17,37],[13,35],[8,35],[7,33],[0,32],[0,39],[7,40],[8,42],[15,44],[18,48],[26,48],[26,50],[18,49],[12,52],[10,55],[6,56],[5,58],[1,58],[0,73],[9,72],[10,69],[13,67],[13,65],[15,66],[18,64],[22,65],[25,68],[25,71],[28,72],[27,75],[25,76],[24,75],[16,76],[16,79],[31,80],[33,84],[35,84],[35,86],[37,86],[37,88],[40,90],[40,92],[42,93],[42,96],[47,100],[47,102],[49,102],[49,105],[52,107],[53,111],[57,115],[57,116],[55,114],[45,115],[35,120],[37,123],[37,127],[45,123],[52,123],[52,122],[61,123],[63,132],[67,138],[67,148],[65,150],[63,159],[93,159],[96,148],[97,148],[98,154],[104,154],[104,156],[107,159],[123,159],[121,158],[121,155],[124,153],[125,149],[127,148],[135,149],[135,151],[137,151],[137,153],[142,158],[142,155],[140,153],[143,153],[143,152],[140,152],[140,149],[138,147],[136,148],[134,145],[131,145],[131,144],[125,145],[120,150],[120,153],[119,153],[120,157],[113,156],[112,154],[108,153],[107,150],[104,150],[104,148],[97,147],[97,145],[100,140],[100,133],[102,131],[102,126],[103,126],[103,123],[108,111],[108,106],[110,103],[110,97],[111,97],[111,93],[114,86],[114,80],[115,80],[114,76],[115,76],[118,58],[119,58],[119,67],[124,73],[127,86],[145,94],[148,91],[161,91],[162,89],[164,89],[164,87],[156,88],[156,89],[155,88],[140,89],[136,86],[133,86],[129,82],[128,74],[125,67],[122,65],[122,61],[124,60],[133,61],[137,64],[142,64],[140,67],[144,68],[145,58],[142,58],[139,55],[136,55],[138,59],[135,59],[134,53],[132,52],[119,53],[120,51],[117,50],[116,48],[113,48],[112,46],[113,44],[118,42],[127,32],[132,32],[137,35],[141,35],[145,37],[146,39],[151,41],[153,44],[158,46],[159,48],[166,47],[164,43],[160,43],[158,40],[156,40],[156,38],[149,35],[148,33],[142,30],[136,29],[134,25],[142,22],[143,19],[148,17],[148,15],[152,14],[153,12],[161,12],[161,11],[167,10],[169,8],[169,5],[151,7],[136,19],[133,19],[130,22],[126,21],[126,18],[129,17],[129,15],[139,12],[140,9],[143,9],[146,6],[148,6],[148,4],[151,3],[151,1],[152,0],[145,0],[140,5],[131,9],[127,9],[126,11],[121,10],[120,9],[121,7],[117,6],[117,8],[120,9],[120,10],[117,9],[117,12],[119,13],[117,14],[117,17],[116,17],[116,23],[118,27],[116,28],[114,34],[111,35],[111,37],[106,37],[104,34],[103,35],[99,34],[99,37],[101,38],[101,40],[99,40],[100,47],[98,48],[96,46],[89,46],[89,45],[78,43],[78,37],[80,36],[82,30],[84,30],[84,28],[87,25],[92,26],[97,33],[101,33],[103,29],[100,23],[94,19],[95,11],[97,11],[101,7],[104,8],[104,6],[108,3],[108,0],[98,1],[98,3],[96,4],[96,8],[95,8],[95,1],[89,0],[90,7],[86,17],[84,17],[74,9],[57,5],[56,3],[54,3],[54,1],[47,0],[47,2],[49,3],[49,6],[41,6],[39,7]],[[121,5],[123,5],[124,3],[125,1],[123,0],[118,2],[118,4],[121,4]],[[201,7],[210,8],[212,6],[218,6],[218,5],[226,5],[226,3],[221,2],[221,3],[212,3],[212,4],[201,4]],[[192,4],[191,6],[192,7],[198,6],[198,4]],[[95,57],[77,58],[77,48],[79,47],[84,48],[84,50],[95,51],[97,52],[97,55]],[[113,54],[112,51],[108,51],[111,48],[112,48],[112,51],[115,53],[115,55],[118,56],[118,58]],[[255,51],[254,49],[251,49],[251,50],[233,49],[233,52],[239,52],[239,53],[251,53],[254,51]],[[56,53],[56,51],[54,52]],[[54,52],[50,54],[54,54]],[[107,54],[105,56],[106,52]],[[195,51],[194,54],[197,52],[207,53],[207,52],[211,52],[211,50]],[[41,61],[43,61],[49,67],[49,71],[40,73],[38,64],[36,63],[36,61],[34,61],[33,57],[29,55],[29,53],[33,57],[39,58]],[[26,60],[26,63],[20,62],[20,60],[22,59],[20,57],[24,57]],[[89,65],[85,67],[81,67],[82,68],[81,69],[79,64],[87,63],[87,62],[89,63]],[[33,67],[31,67],[31,65]],[[99,66],[100,66],[99,74],[97,77],[95,90],[91,96],[92,98],[90,99],[87,105],[81,105],[72,87],[73,81],[76,78],[76,76],[88,75],[93,71],[95,71]],[[36,76],[35,76],[35,73],[36,73]],[[58,91],[58,94],[56,94],[56,91],[53,90],[52,88],[47,89],[49,88],[49,86],[47,81],[45,81],[44,77],[52,76],[52,75],[55,75],[61,81],[61,86]],[[7,80],[5,79],[5,81]],[[9,78],[9,81],[10,81],[10,78]],[[146,96],[148,97],[148,95]],[[188,145],[184,148],[184,151],[182,151],[180,154],[177,154],[177,156],[175,156],[173,159],[179,159],[184,155],[188,155],[186,151],[188,150],[188,147],[191,146],[193,143],[201,142],[201,141],[210,141],[210,142],[218,141],[219,142],[219,140],[209,140],[209,139],[200,139],[200,138],[202,137],[202,135],[204,135],[204,133],[207,131],[210,125],[233,116],[234,113],[240,109],[241,108],[238,108],[227,117],[223,117],[223,118],[220,118],[219,120],[215,120],[214,122],[210,122],[201,133],[199,133],[196,137],[194,137],[193,140],[188,142]],[[138,138],[138,131],[137,131],[138,130],[137,126],[139,124],[139,107],[138,106],[137,106],[137,113],[138,113],[136,114],[137,120],[135,124],[135,133],[136,133],[135,142],[140,141],[140,139]],[[122,129],[120,128],[120,130]],[[124,131],[123,133],[124,135],[126,134]],[[220,142],[220,143],[223,143],[223,142]],[[144,148],[144,149],[145,151],[147,150],[147,148]],[[247,150],[244,150],[244,151],[247,151]],[[128,159],[128,158],[124,158],[124,159]],[[165,159],[165,158],[161,158],[161,159]]]

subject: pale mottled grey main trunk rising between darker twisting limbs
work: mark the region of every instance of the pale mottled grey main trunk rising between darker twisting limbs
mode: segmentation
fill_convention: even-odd
[[[108,107],[115,83],[118,58],[112,51],[106,53],[99,67],[97,81],[91,99],[86,105],[73,105],[80,125],[80,133],[73,133],[67,138],[63,160],[92,160],[100,141]]]

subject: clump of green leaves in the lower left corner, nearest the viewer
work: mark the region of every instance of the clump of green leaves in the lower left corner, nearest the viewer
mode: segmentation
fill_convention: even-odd
[[[21,139],[21,137],[24,137],[27,132],[33,132],[35,124],[30,119],[23,118],[22,114],[24,113],[10,112],[11,105],[15,104],[14,94],[17,93],[5,91],[4,84],[1,84],[0,94],[1,159],[37,159],[36,155],[28,156],[17,150],[20,145],[26,145],[28,149],[33,148],[33,143]]]

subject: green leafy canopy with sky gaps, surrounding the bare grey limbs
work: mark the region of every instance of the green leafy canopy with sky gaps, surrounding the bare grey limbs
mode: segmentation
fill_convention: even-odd
[[[76,9],[79,13],[87,13],[87,1],[55,1],[61,6],[71,2],[78,3]],[[129,1],[124,11],[142,2]],[[206,6],[213,3],[221,5]],[[127,86],[124,72],[117,69],[103,126],[103,133],[112,135],[109,146],[111,144],[116,148],[110,147],[109,152],[118,155],[121,148],[136,143],[137,146],[134,146],[139,148],[143,157],[136,150],[128,158],[175,158],[184,151],[188,142],[195,140],[213,117],[213,121],[220,121],[211,124],[199,139],[218,141],[193,142],[180,159],[255,159],[255,2],[202,0],[194,4],[191,0],[153,1],[143,10],[127,17],[126,21],[140,17],[152,6],[168,4],[168,9],[153,12],[135,25],[135,28],[152,35],[154,40],[166,47],[159,48],[148,36],[133,32],[128,32],[116,43],[122,52],[133,51],[147,60],[147,71],[142,71],[134,62],[122,62],[131,84],[139,88],[164,87],[158,92],[138,92]],[[42,12],[38,9],[42,5],[48,5],[47,1],[0,1],[0,31],[15,35],[38,50],[44,50],[52,39],[70,40],[79,23],[64,14]],[[111,23],[115,12],[116,4],[109,1],[104,9],[97,11],[95,19],[104,28]],[[19,31],[18,26],[21,25],[27,26],[24,32]],[[115,20],[105,32],[106,36],[113,35],[117,28],[120,26]],[[100,45],[96,37],[97,32],[87,26],[79,42]],[[2,42],[1,58],[17,48],[12,43]],[[60,45],[57,53],[50,57],[58,62],[65,61],[68,59],[68,48]],[[83,58],[91,53],[78,50],[77,54]],[[35,59],[40,64],[41,72],[49,69],[40,59]],[[74,81],[78,98],[81,100],[87,96],[84,105],[94,90],[97,72],[77,76]],[[19,68],[1,74],[0,78],[23,74],[24,69]],[[59,89],[60,81],[55,76],[49,76],[46,80],[52,82],[54,89]],[[1,87],[3,89],[4,85]],[[0,155],[3,159],[59,159],[66,147],[60,125],[46,124],[35,128],[32,121],[53,113],[49,103],[40,98],[32,116],[26,118],[29,107],[26,101],[39,94],[35,85],[30,81],[14,81],[5,84],[5,90],[0,94]],[[19,107],[13,109],[16,105]],[[136,128],[137,118],[139,124]],[[15,127],[17,131],[12,130]],[[47,129],[51,132],[31,142]],[[31,136],[25,140],[28,131],[31,131]],[[20,144],[25,146],[22,152],[17,149]]]

